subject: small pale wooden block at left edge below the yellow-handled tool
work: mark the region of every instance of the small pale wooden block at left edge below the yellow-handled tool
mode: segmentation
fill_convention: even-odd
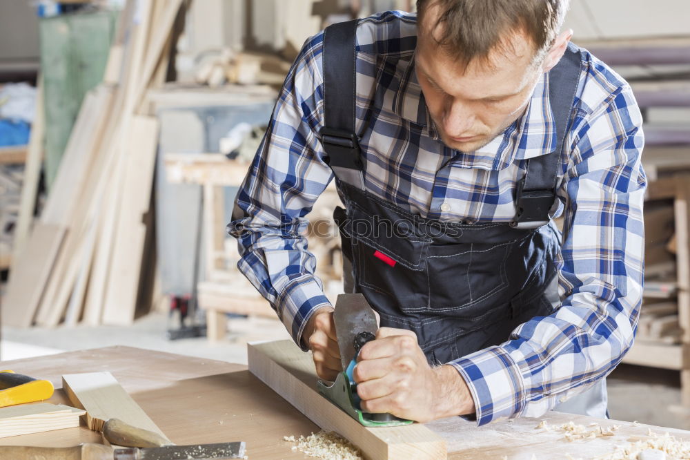
[[[39,403],[0,408],[0,438],[79,426],[86,411],[61,404]]]

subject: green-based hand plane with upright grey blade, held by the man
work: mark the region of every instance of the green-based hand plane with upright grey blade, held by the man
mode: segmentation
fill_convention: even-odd
[[[362,294],[340,294],[335,303],[333,322],[343,371],[337,375],[333,383],[318,381],[319,393],[364,426],[398,426],[413,423],[392,414],[362,412],[360,408],[361,400],[357,396],[357,384],[352,372],[357,364],[359,349],[368,341],[374,340],[378,329],[376,316],[366,298]]]

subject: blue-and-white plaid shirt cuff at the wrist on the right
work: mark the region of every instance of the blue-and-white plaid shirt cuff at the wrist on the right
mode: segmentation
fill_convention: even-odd
[[[477,426],[520,414],[525,383],[520,367],[501,347],[489,347],[448,363],[460,372],[475,403]]]

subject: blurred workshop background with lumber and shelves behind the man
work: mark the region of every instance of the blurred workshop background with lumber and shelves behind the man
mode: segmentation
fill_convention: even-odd
[[[135,345],[246,363],[289,338],[226,235],[277,88],[329,23],[410,0],[0,0],[0,358]],[[642,108],[645,298],[614,419],[690,429],[690,3],[572,0]],[[309,218],[342,289],[329,188]]]

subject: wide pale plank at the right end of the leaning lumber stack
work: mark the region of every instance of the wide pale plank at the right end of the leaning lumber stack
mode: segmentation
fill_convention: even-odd
[[[137,115],[132,123],[112,265],[101,318],[104,324],[131,324],[135,317],[146,239],[143,219],[151,198],[158,128],[157,119],[152,117]]]

